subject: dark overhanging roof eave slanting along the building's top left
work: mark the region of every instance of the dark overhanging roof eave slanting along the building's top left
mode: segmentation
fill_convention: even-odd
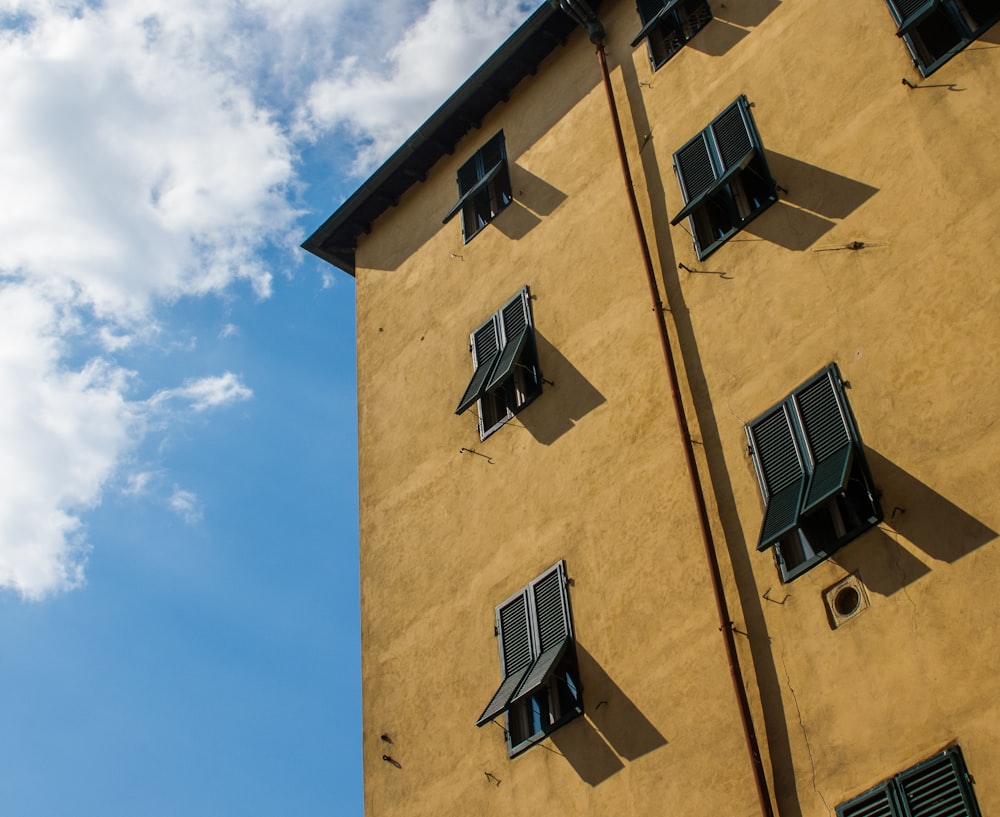
[[[533,74],[574,24],[543,3],[430,118],[424,122],[323,224],[302,248],[354,275],[358,237],[430,167],[455,149],[481,116],[505,100],[514,86]],[[411,167],[420,155],[417,167]],[[410,172],[404,173],[408,168]]]

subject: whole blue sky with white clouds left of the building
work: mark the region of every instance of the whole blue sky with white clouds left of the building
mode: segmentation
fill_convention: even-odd
[[[537,7],[0,0],[0,802],[361,814],[353,282]]]

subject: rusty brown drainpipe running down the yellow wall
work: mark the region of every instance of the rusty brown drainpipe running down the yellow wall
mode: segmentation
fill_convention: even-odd
[[[608,97],[608,107],[611,110],[611,124],[614,127],[615,142],[618,146],[618,159],[621,163],[622,175],[625,178],[625,192],[628,196],[629,209],[632,212],[632,222],[635,225],[636,236],[639,239],[642,263],[646,271],[646,281],[649,284],[649,297],[653,304],[653,314],[656,317],[660,345],[663,348],[663,357],[667,365],[667,376],[670,380],[670,395],[674,404],[674,412],[677,415],[677,430],[680,433],[681,445],[684,449],[684,461],[687,465],[688,478],[691,482],[695,506],[698,511],[701,539],[705,547],[705,557],[708,561],[709,573],[712,579],[712,590],[715,595],[715,606],[719,616],[719,632],[722,633],[722,638],[725,642],[729,674],[733,682],[733,692],[736,695],[736,702],[740,711],[740,723],[743,726],[743,737],[746,742],[747,754],[750,757],[750,764],[753,768],[757,800],[760,803],[760,811],[763,817],[774,817],[771,796],[767,786],[767,776],[765,775],[764,763],[760,755],[760,744],[757,741],[757,733],[754,730],[753,719],[750,715],[750,703],[747,700],[746,688],[743,685],[743,673],[740,670],[739,656],[736,653],[733,622],[729,617],[729,606],[726,603],[726,594],[722,586],[722,573],[719,569],[719,558],[715,550],[715,540],[708,521],[708,505],[705,501],[705,491],[701,484],[701,477],[698,474],[698,465],[694,457],[694,445],[691,442],[687,413],[684,409],[684,402],[681,399],[677,366],[674,362],[674,353],[670,346],[667,322],[663,316],[663,300],[660,298],[660,289],[656,283],[656,274],[653,270],[653,259],[649,252],[649,242],[646,239],[646,231],[642,226],[642,218],[639,214],[639,204],[636,200],[635,187],[632,184],[632,171],[629,168],[628,156],[625,152],[625,139],[622,136],[618,106],[615,104],[615,96],[611,87],[611,75],[608,71],[608,60],[604,51],[604,26],[601,25],[600,20],[598,20],[597,15],[590,9],[586,0],[549,0],[549,4],[561,9],[574,22],[586,28],[590,36],[590,41],[597,49],[601,79],[604,82],[604,91]]]

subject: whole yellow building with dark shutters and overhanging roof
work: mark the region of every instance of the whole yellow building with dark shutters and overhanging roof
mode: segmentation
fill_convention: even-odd
[[[356,284],[368,817],[1000,814],[1000,6],[598,11],[305,245]]]

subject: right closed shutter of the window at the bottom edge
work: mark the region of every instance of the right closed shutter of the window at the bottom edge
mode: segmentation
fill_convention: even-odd
[[[945,749],[893,778],[904,817],[979,817],[962,750]]]

